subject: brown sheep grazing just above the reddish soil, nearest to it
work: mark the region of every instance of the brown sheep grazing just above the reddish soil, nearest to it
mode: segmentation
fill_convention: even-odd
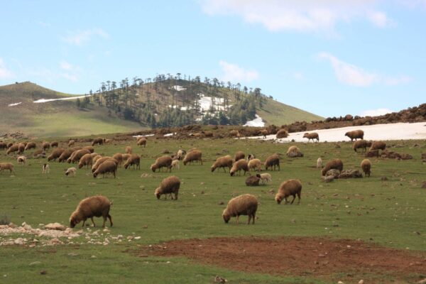
[[[239,195],[229,200],[224,212],[222,212],[222,218],[227,224],[231,217],[236,217],[236,224],[239,224],[240,215],[248,215],[250,224],[251,219],[256,219],[256,211],[258,207],[258,200],[254,195]]]

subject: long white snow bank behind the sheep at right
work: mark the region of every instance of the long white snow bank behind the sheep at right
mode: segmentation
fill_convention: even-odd
[[[293,139],[296,142],[307,142],[307,138],[303,138],[306,132],[317,132],[320,141],[339,142],[351,141],[344,133],[361,129],[364,131],[364,139],[366,140],[410,140],[410,139],[426,139],[426,122],[416,122],[414,124],[398,123],[398,124],[375,124],[368,126],[349,126],[339,129],[321,129],[312,131],[303,131],[289,133],[287,138],[276,139],[280,143],[288,143]],[[249,137],[262,139],[263,136]],[[266,136],[265,140],[275,139],[275,135]]]

